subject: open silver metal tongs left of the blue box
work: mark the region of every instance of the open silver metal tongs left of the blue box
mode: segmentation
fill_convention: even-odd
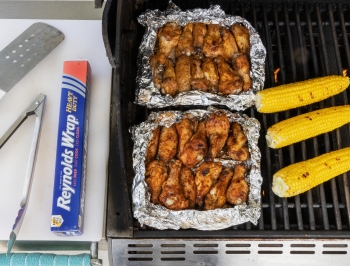
[[[10,234],[10,239],[7,242],[7,255],[10,254],[12,246],[16,240],[16,237],[21,228],[24,215],[26,213],[26,207],[29,201],[30,189],[32,185],[32,179],[34,175],[34,167],[36,154],[39,146],[39,136],[41,131],[41,122],[44,114],[46,95],[40,93],[35,100],[22,112],[22,114],[17,118],[17,120],[12,124],[12,126],[5,132],[5,134],[0,138],[0,149],[9,140],[9,138],[15,133],[15,131],[21,126],[21,124],[31,115],[36,115],[34,134],[32,139],[32,144],[29,152],[29,160],[27,166],[26,178],[24,180],[24,187],[22,193],[22,199],[20,203],[20,210],[18,211],[15,224],[12,227],[12,232]]]

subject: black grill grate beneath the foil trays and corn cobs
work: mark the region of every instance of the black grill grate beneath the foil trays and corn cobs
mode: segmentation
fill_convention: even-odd
[[[124,3],[121,3],[124,2]],[[202,1],[174,1],[182,9],[209,7]],[[259,32],[267,50],[265,87],[331,74],[350,73],[350,4],[290,3],[260,1],[219,3],[226,13],[246,18]],[[313,2],[313,1],[312,1]],[[130,6],[128,6],[130,5]],[[133,10],[133,7],[136,9]],[[262,124],[261,148],[262,212],[257,225],[246,223],[221,231],[159,231],[141,226],[131,218],[131,204],[118,204],[130,198],[133,178],[132,141],[127,129],[144,121],[151,111],[133,104],[136,57],[144,29],[135,18],[146,9],[165,9],[166,1],[141,1],[138,5],[118,1],[116,65],[111,116],[111,161],[108,199],[107,235],[134,238],[202,237],[350,237],[349,174],[343,174],[300,196],[276,197],[271,191],[274,172],[294,162],[350,146],[350,125],[279,150],[268,149],[266,129],[285,118],[313,109],[348,103],[348,91],[312,106],[287,112],[261,115],[254,108],[245,113]],[[122,19],[122,10],[133,10]],[[124,11],[125,13],[125,11]],[[130,18],[134,20],[131,20]],[[119,24],[118,24],[119,23]],[[118,50],[119,49],[119,50]],[[118,50],[118,51],[117,51]],[[279,69],[278,73],[276,70]],[[275,77],[277,80],[275,80]],[[176,109],[176,108],[172,108]],[[181,107],[187,110],[188,107]],[[114,122],[113,122],[114,121]],[[116,124],[118,127],[116,127]],[[121,152],[121,153],[120,153]],[[127,187],[126,187],[127,186]]]

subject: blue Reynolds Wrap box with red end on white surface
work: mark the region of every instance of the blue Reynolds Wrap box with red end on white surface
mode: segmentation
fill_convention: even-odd
[[[89,79],[87,60],[64,62],[51,216],[51,231],[60,236],[83,233]]]

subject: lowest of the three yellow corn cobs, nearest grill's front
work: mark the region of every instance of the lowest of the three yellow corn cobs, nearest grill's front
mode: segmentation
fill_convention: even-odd
[[[274,174],[272,191],[292,197],[350,170],[350,148],[289,165]]]

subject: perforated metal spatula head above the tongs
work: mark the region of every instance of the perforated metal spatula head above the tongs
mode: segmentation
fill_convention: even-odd
[[[0,99],[64,40],[64,34],[35,23],[0,52]]]

